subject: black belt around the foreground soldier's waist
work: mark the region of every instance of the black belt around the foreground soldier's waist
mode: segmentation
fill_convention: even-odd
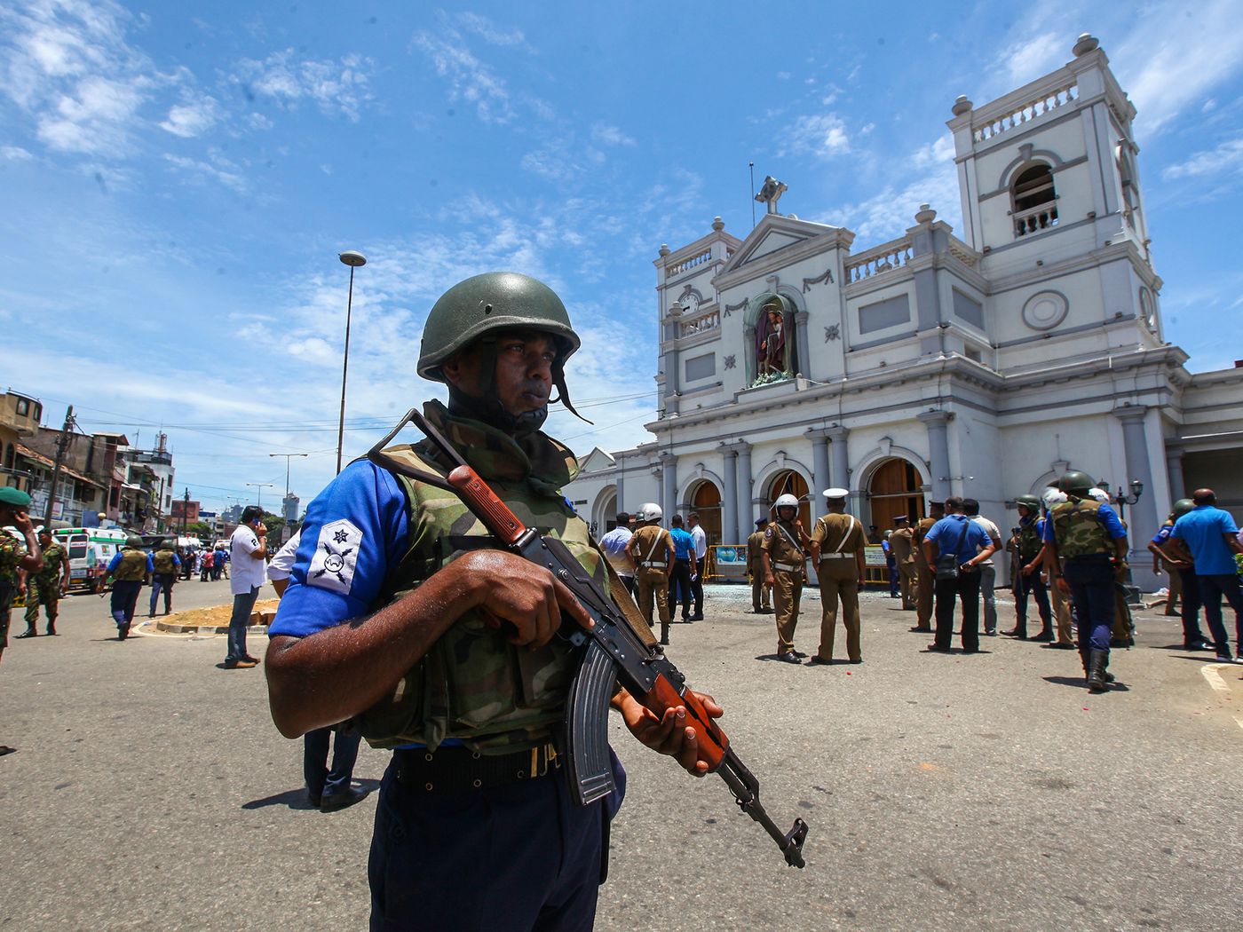
[[[561,767],[557,748],[541,744],[511,754],[480,754],[464,747],[395,751],[397,782],[416,793],[467,793],[544,777]]]

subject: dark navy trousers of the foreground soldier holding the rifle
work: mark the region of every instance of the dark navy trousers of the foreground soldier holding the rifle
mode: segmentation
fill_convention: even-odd
[[[563,770],[492,789],[416,793],[395,769],[385,772],[375,808],[372,932],[592,928],[612,797],[576,805]]]

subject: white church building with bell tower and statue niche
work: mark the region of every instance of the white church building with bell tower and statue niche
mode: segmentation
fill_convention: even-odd
[[[745,240],[717,219],[655,260],[658,420],[650,442],[594,450],[566,490],[603,533],[655,501],[746,541],[789,491],[803,521],[844,486],[865,524],[1014,496],[1066,468],[1110,483],[1147,541],[1198,486],[1243,517],[1243,368],[1192,374],[1167,343],[1136,167],[1136,111],[1099,43],[948,122],[963,229],[921,205],[890,242],[777,212]],[[1136,485],[1137,483],[1137,485]]]

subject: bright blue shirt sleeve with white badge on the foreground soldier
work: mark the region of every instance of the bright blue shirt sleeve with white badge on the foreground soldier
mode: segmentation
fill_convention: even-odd
[[[334,534],[324,526],[341,521],[359,533],[352,572],[312,573],[316,552],[332,552],[334,546]],[[268,635],[305,637],[367,614],[389,567],[405,553],[408,536],[405,491],[393,473],[367,460],[352,462],[307,507],[290,587]]]

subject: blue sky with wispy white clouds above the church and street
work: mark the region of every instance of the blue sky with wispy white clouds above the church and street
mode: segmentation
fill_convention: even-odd
[[[513,268],[566,299],[585,454],[645,439],[655,272],[715,215],[782,210],[866,249],[921,201],[961,229],[945,121],[1096,35],[1136,107],[1167,337],[1241,352],[1237,4],[114,4],[0,9],[2,380],[87,430],[165,425],[178,491],[310,500],[331,477],[348,270],[347,457],[435,389],[426,309]],[[16,334],[16,339],[14,339]],[[275,498],[275,496],[273,496]]]

